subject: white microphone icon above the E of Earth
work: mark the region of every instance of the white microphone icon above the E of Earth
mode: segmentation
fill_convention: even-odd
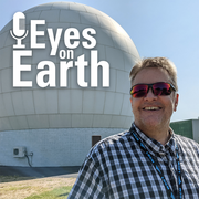
[[[21,44],[21,40],[28,35],[28,32],[25,30],[25,15],[22,12],[15,12],[13,15],[13,33],[10,30],[10,34],[17,40],[17,45],[13,45],[14,49],[25,48],[24,44]]]

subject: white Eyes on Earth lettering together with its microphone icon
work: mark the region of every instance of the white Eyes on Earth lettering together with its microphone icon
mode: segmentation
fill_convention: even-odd
[[[30,20],[30,32],[25,30],[25,15],[22,12],[17,12],[13,15],[13,30],[10,30],[11,36],[15,40],[13,44],[13,87],[32,87],[32,81],[21,80],[21,73],[30,72],[31,65],[22,64],[23,57],[34,55],[34,50],[45,51],[45,43],[38,42],[39,36],[44,36],[45,31],[39,31],[39,25],[45,25],[45,20]],[[109,87],[109,63],[106,61],[98,61],[98,51],[94,50],[96,46],[96,31],[93,28],[85,28],[78,31],[76,28],[52,28],[46,29],[46,34],[51,44],[50,56],[57,55],[60,57],[60,85],[56,85],[56,66],[52,61],[41,61],[38,63],[36,84],[40,87],[67,87],[67,71],[77,67],[77,84],[81,87],[87,87],[88,83],[85,81],[85,67],[91,70],[91,87],[97,87],[98,66],[102,66],[102,86]],[[82,34],[82,35],[81,35]],[[61,44],[61,35],[64,36],[64,45],[67,50],[57,50]],[[30,49],[27,49],[24,39],[30,36]],[[83,36],[83,41],[80,38]],[[75,57],[75,49],[82,45],[90,50],[91,60],[85,60],[85,54]],[[67,60],[67,61],[65,61]],[[70,60],[70,61],[69,61]],[[48,70],[46,67],[48,66]],[[48,81],[44,81],[48,76]]]

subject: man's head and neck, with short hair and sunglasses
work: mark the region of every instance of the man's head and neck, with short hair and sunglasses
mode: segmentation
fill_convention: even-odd
[[[176,76],[172,63],[161,57],[144,60],[130,72],[135,125],[163,145],[169,138],[170,117],[178,105]]]

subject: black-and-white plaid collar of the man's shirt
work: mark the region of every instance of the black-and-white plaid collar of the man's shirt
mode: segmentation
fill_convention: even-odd
[[[174,130],[170,127],[169,133],[171,134],[171,136],[165,146],[139,130],[135,123],[132,124],[132,127],[135,127],[137,136],[139,136],[140,140],[148,148],[148,150],[153,151],[156,155],[158,154],[159,156],[164,156],[168,151],[171,156],[176,156],[176,140],[174,136]]]

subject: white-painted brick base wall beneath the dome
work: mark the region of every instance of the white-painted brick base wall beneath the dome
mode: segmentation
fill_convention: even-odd
[[[130,125],[130,124],[129,124]],[[56,128],[0,132],[0,166],[29,167],[28,159],[14,158],[14,147],[33,153],[32,167],[81,166],[92,147],[92,136],[103,138],[122,128]]]

